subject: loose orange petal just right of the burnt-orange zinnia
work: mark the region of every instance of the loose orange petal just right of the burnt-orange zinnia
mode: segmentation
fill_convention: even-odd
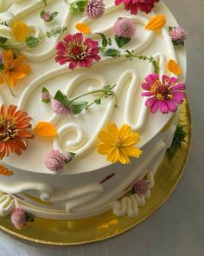
[[[47,121],[39,121],[35,126],[35,134],[44,138],[55,138],[57,131],[54,125]]]

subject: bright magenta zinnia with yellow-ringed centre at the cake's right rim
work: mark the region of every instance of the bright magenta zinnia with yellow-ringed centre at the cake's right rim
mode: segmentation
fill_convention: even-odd
[[[146,82],[143,82],[142,88],[147,90],[143,92],[142,96],[150,97],[145,105],[150,108],[152,113],[160,108],[163,114],[175,112],[178,104],[182,104],[185,95],[185,84],[179,83],[175,77],[169,77],[163,75],[162,82],[159,79],[159,75],[150,74],[145,78]]]

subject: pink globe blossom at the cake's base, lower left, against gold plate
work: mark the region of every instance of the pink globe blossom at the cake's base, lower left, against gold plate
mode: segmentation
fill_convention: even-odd
[[[28,226],[28,221],[26,220],[26,212],[22,208],[14,209],[10,213],[10,221],[18,230],[25,229]]]

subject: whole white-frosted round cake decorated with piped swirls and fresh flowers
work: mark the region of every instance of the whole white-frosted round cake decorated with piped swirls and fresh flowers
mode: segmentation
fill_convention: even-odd
[[[162,1],[127,2],[0,1],[1,216],[136,217],[150,199],[186,32]]]

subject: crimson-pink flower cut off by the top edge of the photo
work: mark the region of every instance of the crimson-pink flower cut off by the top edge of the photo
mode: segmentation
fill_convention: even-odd
[[[131,14],[137,14],[138,10],[150,13],[156,2],[159,0],[115,0],[116,5],[124,3],[124,9],[131,10]]]

